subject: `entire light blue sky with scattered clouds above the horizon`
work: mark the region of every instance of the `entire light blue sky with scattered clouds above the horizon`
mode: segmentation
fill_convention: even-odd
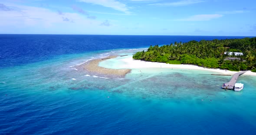
[[[256,36],[256,0],[0,0],[1,34]]]

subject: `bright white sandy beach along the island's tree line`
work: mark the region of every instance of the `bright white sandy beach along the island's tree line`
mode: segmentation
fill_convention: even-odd
[[[221,74],[230,74],[233,75],[237,73],[237,71],[226,71],[221,69],[210,69],[205,67],[199,67],[195,65],[187,65],[187,64],[166,64],[159,62],[149,62],[149,61],[140,61],[134,60],[132,56],[127,56],[119,59],[121,63],[118,65],[119,68],[128,68],[128,69],[138,69],[138,68],[178,68],[178,69],[193,69],[193,70],[204,70],[204,71],[213,71]],[[253,75],[256,76],[255,72],[247,71],[244,75]]]

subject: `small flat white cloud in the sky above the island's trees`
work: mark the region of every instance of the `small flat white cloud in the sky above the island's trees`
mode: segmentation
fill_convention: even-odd
[[[221,14],[204,14],[204,15],[194,15],[184,19],[177,19],[177,21],[209,21],[211,19],[220,18]]]

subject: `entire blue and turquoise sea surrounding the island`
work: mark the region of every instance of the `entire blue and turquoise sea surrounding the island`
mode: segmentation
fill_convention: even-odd
[[[125,78],[75,65],[149,45],[233,36],[0,35],[0,135],[255,135],[256,77],[132,69]],[[122,64],[117,59],[104,67]],[[142,72],[141,72],[142,71]]]

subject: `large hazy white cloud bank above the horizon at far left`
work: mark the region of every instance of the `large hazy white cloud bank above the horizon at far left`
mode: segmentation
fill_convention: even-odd
[[[32,29],[33,33],[57,32],[69,33],[69,28],[74,32],[84,32],[83,29],[97,29],[101,21],[88,19],[87,16],[79,13],[58,13],[42,7],[8,5],[15,7],[10,11],[0,11],[0,33],[28,32],[26,29]],[[3,30],[5,29],[5,31]],[[25,29],[25,31],[24,31]],[[37,30],[38,29],[38,30]],[[40,30],[39,30],[40,29]]]

